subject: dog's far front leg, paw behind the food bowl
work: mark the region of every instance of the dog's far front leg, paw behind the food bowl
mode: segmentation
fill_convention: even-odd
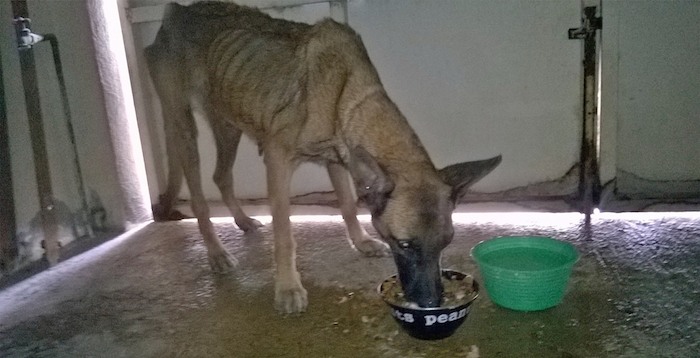
[[[345,220],[348,237],[353,246],[366,256],[387,256],[389,254],[389,246],[373,239],[357,220],[356,199],[350,187],[348,172],[340,164],[329,163],[328,175],[338,197],[340,212],[343,215],[343,220]]]

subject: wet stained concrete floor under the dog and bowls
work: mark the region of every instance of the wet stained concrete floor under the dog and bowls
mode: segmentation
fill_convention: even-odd
[[[326,210],[327,211],[327,210]],[[521,313],[483,292],[454,336],[400,331],[376,293],[390,258],[365,258],[338,216],[294,217],[309,310],[273,309],[269,218],[216,228],[240,261],[210,272],[193,221],[152,223],[0,291],[0,357],[699,357],[700,214],[456,214],[443,267],[499,235],[572,242],[561,305]],[[373,232],[367,218],[364,223]]]

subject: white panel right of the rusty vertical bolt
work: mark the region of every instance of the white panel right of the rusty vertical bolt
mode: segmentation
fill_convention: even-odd
[[[621,194],[697,197],[700,2],[606,1],[603,16],[608,178]]]

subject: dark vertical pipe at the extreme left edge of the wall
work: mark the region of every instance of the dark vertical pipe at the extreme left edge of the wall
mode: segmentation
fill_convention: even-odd
[[[2,56],[0,54],[0,63]],[[12,191],[12,165],[10,161],[10,140],[5,106],[5,87],[0,66],[0,275],[10,271],[17,257],[17,221],[15,200]]]

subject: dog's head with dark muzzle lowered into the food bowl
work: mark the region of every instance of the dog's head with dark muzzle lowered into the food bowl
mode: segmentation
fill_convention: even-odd
[[[421,173],[397,183],[374,158],[356,152],[351,172],[372,224],[389,244],[406,299],[421,307],[441,303],[440,256],[452,241],[452,211],[470,185],[491,172],[501,156]]]

